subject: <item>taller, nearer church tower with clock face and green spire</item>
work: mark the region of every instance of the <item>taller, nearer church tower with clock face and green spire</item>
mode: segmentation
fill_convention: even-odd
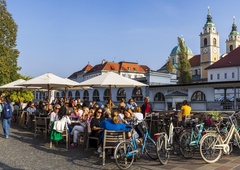
[[[220,54],[219,34],[212,22],[212,16],[209,8],[207,22],[203,27],[203,32],[200,33],[200,45],[201,79],[203,81],[207,81],[207,70],[205,70],[205,68],[218,61]]]

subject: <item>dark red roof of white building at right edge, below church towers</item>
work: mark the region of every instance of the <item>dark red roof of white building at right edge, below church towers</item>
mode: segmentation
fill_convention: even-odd
[[[240,66],[240,47],[228,53],[225,57],[210,65],[207,69]]]

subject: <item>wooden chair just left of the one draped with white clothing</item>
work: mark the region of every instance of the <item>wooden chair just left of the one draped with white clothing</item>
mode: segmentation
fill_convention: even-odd
[[[34,116],[33,122],[34,122],[34,138],[36,138],[37,133],[43,132],[44,140],[46,141],[48,133],[47,119],[45,117]]]

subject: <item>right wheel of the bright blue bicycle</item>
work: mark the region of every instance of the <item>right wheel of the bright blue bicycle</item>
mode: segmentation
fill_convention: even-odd
[[[156,160],[158,158],[156,142],[151,137],[148,137],[146,140],[145,151],[146,151],[147,155],[150,158],[152,158],[153,160]]]

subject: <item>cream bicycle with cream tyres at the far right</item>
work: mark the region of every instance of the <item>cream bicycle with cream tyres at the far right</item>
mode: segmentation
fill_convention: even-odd
[[[227,133],[226,138],[222,138],[221,132],[216,126],[215,132],[206,133],[201,141],[200,141],[200,154],[203,160],[207,163],[215,163],[217,162],[222,152],[224,154],[230,154],[232,138],[234,138],[234,142],[236,142],[237,146],[240,148],[240,135],[236,125],[236,113],[233,113],[229,116],[229,120],[231,122],[230,130]],[[218,122],[219,123],[219,122]]]

